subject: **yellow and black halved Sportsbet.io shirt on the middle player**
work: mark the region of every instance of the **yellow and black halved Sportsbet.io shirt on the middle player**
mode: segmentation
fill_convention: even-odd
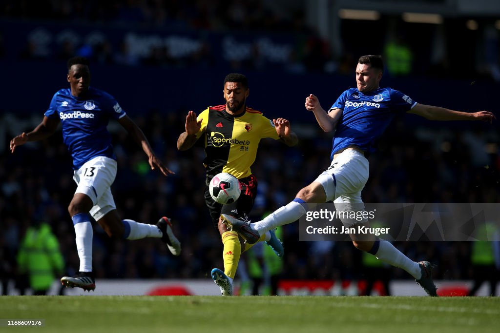
[[[201,128],[196,138],[205,134],[203,164],[211,178],[219,172],[227,172],[240,179],[251,174],[260,139],[279,139],[272,120],[262,112],[249,107],[238,116],[225,111],[225,105],[209,106],[198,115]]]

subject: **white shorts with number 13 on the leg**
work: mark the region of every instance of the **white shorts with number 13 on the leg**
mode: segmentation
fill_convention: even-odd
[[[95,221],[116,209],[111,194],[115,177],[116,161],[104,156],[94,157],[74,171],[73,179],[78,185],[74,193],[83,193],[92,200],[94,206],[89,213]]]

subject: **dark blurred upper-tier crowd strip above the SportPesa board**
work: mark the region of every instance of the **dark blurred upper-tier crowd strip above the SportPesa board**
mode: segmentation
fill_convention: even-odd
[[[2,1],[11,18],[173,29],[290,31],[300,13],[272,10],[261,0],[28,0]]]

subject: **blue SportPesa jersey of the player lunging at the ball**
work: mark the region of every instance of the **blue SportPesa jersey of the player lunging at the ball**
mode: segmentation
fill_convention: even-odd
[[[378,88],[366,94],[356,88],[345,90],[330,108],[343,110],[332,140],[330,159],[350,145],[370,151],[394,115],[415,105],[416,102],[407,95],[392,88]]]

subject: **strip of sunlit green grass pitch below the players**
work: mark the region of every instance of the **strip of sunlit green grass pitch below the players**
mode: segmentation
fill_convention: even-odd
[[[498,332],[500,298],[0,297],[0,332]]]

